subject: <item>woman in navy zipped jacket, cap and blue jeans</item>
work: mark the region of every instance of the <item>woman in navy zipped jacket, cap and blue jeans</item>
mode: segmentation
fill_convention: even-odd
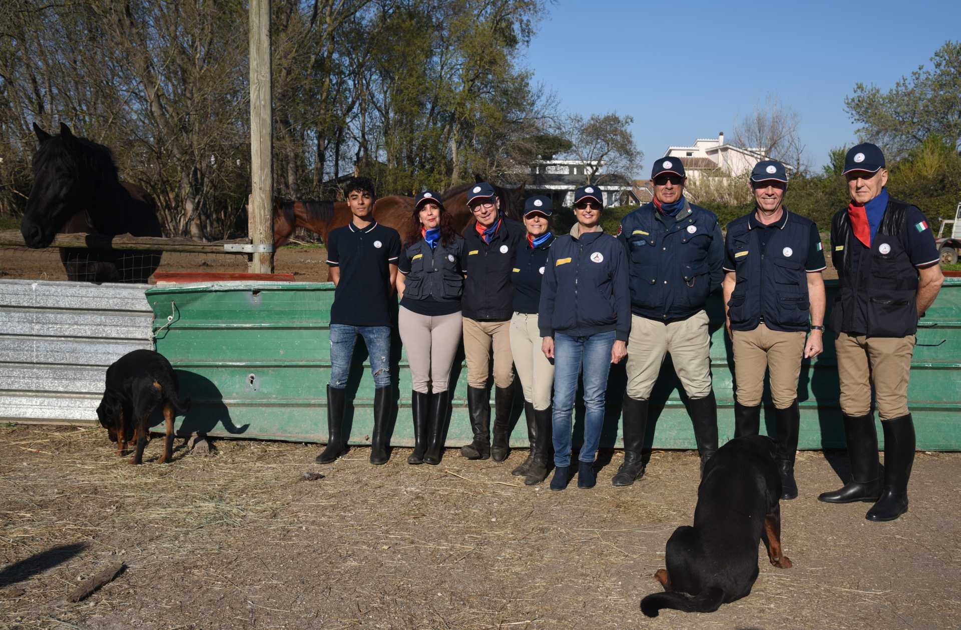
[[[620,242],[601,228],[602,192],[574,192],[578,223],[554,241],[544,267],[538,327],[545,356],[554,359],[554,477],[551,490],[571,478],[571,416],[584,382],[584,443],[578,487],[597,483],[594,458],[604,425],[604,391],[611,363],[628,353],[630,290],[628,258]]]

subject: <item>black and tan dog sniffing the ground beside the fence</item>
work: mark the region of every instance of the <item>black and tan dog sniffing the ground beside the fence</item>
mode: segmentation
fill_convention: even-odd
[[[160,464],[173,457],[174,412],[183,415],[190,407],[190,400],[179,400],[177,376],[170,362],[155,351],[135,350],[107,368],[107,389],[97,407],[97,417],[110,432],[111,442],[117,443],[118,456],[124,454],[128,443],[136,442],[130,463],[143,463],[150,416],[161,402],[166,438]]]

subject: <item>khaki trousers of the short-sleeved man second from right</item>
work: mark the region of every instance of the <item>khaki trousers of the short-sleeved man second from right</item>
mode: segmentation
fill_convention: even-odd
[[[759,324],[753,330],[734,330],[734,377],[737,401],[746,407],[761,403],[764,373],[771,373],[771,398],[787,409],[798,398],[798,377],[804,354],[804,331],[784,332]]]

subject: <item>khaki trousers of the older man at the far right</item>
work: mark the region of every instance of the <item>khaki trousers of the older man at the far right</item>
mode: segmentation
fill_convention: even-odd
[[[849,416],[871,413],[871,386],[874,384],[880,419],[906,416],[907,381],[915,341],[915,335],[865,337],[840,333],[834,348],[838,355],[841,410]]]

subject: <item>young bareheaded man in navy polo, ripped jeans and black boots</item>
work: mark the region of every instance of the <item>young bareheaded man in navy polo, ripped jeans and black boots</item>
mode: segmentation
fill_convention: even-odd
[[[347,448],[342,433],[347,377],[357,337],[363,337],[374,373],[374,431],[371,464],[387,462],[383,433],[390,389],[390,301],[397,279],[401,237],[374,220],[374,183],[355,178],[344,186],[354,219],[327,237],[327,264],[336,290],[331,306],[331,382],[327,386],[327,448],[317,456],[330,464]]]

